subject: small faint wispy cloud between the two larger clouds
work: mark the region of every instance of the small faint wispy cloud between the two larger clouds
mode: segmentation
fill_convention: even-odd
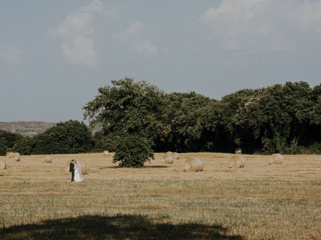
[[[133,49],[141,55],[151,56],[158,53],[158,47],[151,40],[142,37],[144,23],[136,20],[130,24],[127,29],[115,38],[121,43],[131,43]]]

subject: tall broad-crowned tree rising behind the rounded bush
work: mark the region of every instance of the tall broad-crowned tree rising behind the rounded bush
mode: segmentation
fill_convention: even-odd
[[[167,98],[162,90],[145,81],[134,82],[128,77],[111,82],[113,86],[98,88],[99,94],[83,107],[84,117],[90,125],[100,124],[104,135],[113,133],[120,141],[134,140],[129,135],[138,134],[141,141],[153,142],[157,136],[167,134],[169,126],[162,121]],[[116,147],[116,155],[121,149]],[[131,164],[120,166],[136,166]]]

